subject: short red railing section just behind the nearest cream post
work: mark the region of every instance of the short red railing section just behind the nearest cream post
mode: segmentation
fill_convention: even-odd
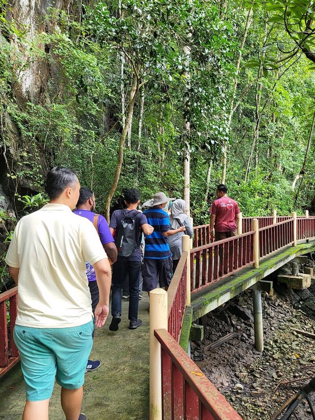
[[[168,332],[179,342],[187,299],[187,258],[184,251],[167,291]]]

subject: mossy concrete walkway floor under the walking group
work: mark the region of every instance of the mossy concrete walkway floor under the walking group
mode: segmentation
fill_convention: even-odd
[[[124,300],[124,299],[123,299]],[[111,332],[108,317],[97,329],[92,359],[102,364],[86,374],[82,412],[88,420],[149,419],[149,298],[143,292],[139,318],[143,325],[128,327],[128,301],[123,301],[123,317],[117,332]],[[0,380],[0,419],[20,420],[25,403],[24,381],[18,363]],[[63,420],[60,387],[55,384],[50,401],[50,420]]]

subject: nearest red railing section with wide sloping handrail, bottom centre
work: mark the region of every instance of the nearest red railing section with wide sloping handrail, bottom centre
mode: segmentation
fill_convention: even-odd
[[[154,335],[161,345],[163,420],[242,420],[165,329]]]

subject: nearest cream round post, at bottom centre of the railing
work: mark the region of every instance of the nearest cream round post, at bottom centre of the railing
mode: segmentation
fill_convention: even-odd
[[[167,292],[150,291],[150,420],[162,420],[161,346],[154,330],[167,330]]]

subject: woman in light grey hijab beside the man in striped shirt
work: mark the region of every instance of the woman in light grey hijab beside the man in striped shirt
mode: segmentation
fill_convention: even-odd
[[[182,236],[189,235],[192,238],[192,226],[187,216],[186,212],[186,202],[184,200],[178,199],[173,201],[171,207],[171,214],[169,216],[169,223],[171,229],[178,229],[180,226],[185,226],[185,232],[175,233],[173,236],[168,237],[168,244],[171,250],[172,259],[173,259],[173,273],[175,273],[178,261],[182,255]]]

